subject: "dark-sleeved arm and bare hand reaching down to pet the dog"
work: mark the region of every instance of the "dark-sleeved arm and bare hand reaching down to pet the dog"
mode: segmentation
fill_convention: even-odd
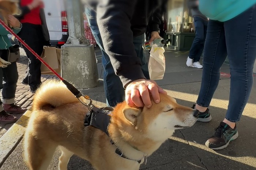
[[[101,0],[97,6],[97,23],[104,49],[126,88],[126,103],[150,108],[150,93],[155,103],[160,102],[159,93],[167,93],[155,81],[145,80],[135,52],[130,20],[136,3],[137,0]]]

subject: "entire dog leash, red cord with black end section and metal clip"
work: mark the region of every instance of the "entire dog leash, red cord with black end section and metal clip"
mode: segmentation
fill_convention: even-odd
[[[64,80],[55,70],[52,69],[52,67],[50,67],[48,65],[48,63],[46,63],[37,53],[35,53],[34,50],[32,50],[21,38],[19,38],[18,35],[16,35],[14,33],[14,31],[12,31],[12,29],[10,27],[8,27],[4,22],[3,20],[0,19],[0,24],[7,30],[9,31],[12,35],[15,36],[15,38],[17,38],[19,40],[20,43],[22,43],[22,45],[24,45],[32,54],[34,54],[34,56],[39,59],[39,61],[41,61],[48,69],[50,69],[66,86],[67,88],[69,89],[69,91],[71,91],[75,96],[76,98],[78,98],[78,100],[86,105],[89,109],[92,108],[92,100],[89,96],[84,96],[78,89],[76,89],[72,84],[70,84],[68,81]],[[85,99],[87,100],[90,100],[90,103],[89,104],[86,104],[84,103],[83,100],[80,99],[80,97],[84,97]]]

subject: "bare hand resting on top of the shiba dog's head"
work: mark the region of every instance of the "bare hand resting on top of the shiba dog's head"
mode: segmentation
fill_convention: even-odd
[[[160,102],[159,93],[167,94],[154,80],[139,79],[131,82],[125,89],[125,101],[129,106],[151,108],[150,93],[155,103]]]

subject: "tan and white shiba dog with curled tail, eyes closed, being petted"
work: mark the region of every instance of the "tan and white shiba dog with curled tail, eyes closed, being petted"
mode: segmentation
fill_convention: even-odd
[[[96,170],[139,170],[176,129],[191,127],[196,111],[160,94],[161,102],[148,109],[129,107],[125,102],[113,111],[103,131],[84,126],[88,108],[56,80],[42,84],[34,96],[33,113],[25,133],[25,161],[30,170],[46,170],[57,147],[61,150],[59,170],[67,170],[75,154]],[[110,140],[114,144],[110,143]],[[126,158],[115,153],[120,149]],[[141,160],[139,164],[137,160]]]

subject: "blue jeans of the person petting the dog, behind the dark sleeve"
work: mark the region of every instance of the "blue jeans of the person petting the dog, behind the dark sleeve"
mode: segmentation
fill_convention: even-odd
[[[102,51],[102,65],[103,65],[103,84],[106,95],[106,103],[108,106],[114,107],[117,103],[123,102],[125,97],[124,87],[120,78],[115,74],[113,66],[110,62],[108,54],[106,54],[101,35],[99,32],[96,12],[90,8],[86,8],[86,16],[88,19],[91,32],[93,33],[97,44]],[[125,35],[124,35],[125,36]],[[142,61],[142,71],[147,79],[150,79],[148,73],[148,63],[146,61],[146,56],[143,55],[142,43],[145,41],[145,35],[133,38],[133,44],[135,46],[135,51],[137,56]]]

